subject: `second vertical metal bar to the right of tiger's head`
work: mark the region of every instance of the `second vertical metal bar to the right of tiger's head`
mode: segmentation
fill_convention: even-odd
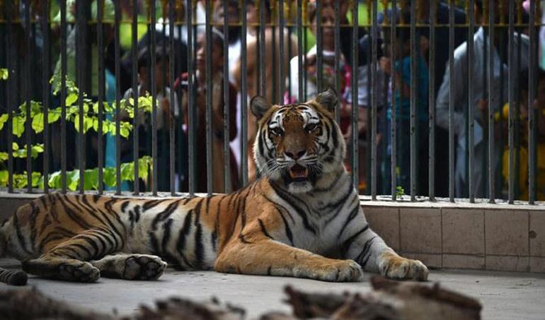
[[[372,2],[371,27],[371,198],[377,200],[377,38],[379,26],[377,19],[378,1]],[[355,68],[355,70],[357,70]]]

